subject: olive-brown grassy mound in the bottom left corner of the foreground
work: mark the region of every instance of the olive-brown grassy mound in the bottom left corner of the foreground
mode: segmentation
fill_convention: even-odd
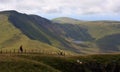
[[[60,72],[37,61],[22,59],[16,56],[4,56],[4,58],[6,60],[0,60],[1,72]]]

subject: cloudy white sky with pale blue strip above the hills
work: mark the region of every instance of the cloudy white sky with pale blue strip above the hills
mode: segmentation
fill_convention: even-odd
[[[120,0],[0,0],[0,11],[16,10],[48,19],[120,21]]]

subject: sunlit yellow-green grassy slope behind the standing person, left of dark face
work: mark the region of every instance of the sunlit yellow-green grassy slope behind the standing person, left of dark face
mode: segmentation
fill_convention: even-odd
[[[0,48],[4,49],[18,49],[20,45],[23,45],[24,48],[29,50],[57,50],[57,48],[48,44],[29,39],[8,21],[7,15],[0,15],[0,39]]]

